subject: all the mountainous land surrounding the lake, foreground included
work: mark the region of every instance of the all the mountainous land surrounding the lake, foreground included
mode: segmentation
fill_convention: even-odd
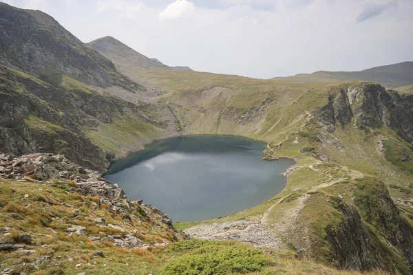
[[[0,33],[6,272],[412,274],[411,62],[268,80],[195,72],[109,36],[85,44],[6,3]],[[295,159],[286,188],[173,227],[100,177],[153,140],[191,134],[267,142],[264,159]],[[281,244],[251,241],[268,238]]]

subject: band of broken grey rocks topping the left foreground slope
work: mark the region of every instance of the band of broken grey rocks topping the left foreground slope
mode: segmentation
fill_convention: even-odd
[[[135,217],[131,216],[129,212],[131,208],[139,206],[142,208],[142,214],[150,216],[160,223],[164,223],[167,228],[176,231],[165,212],[153,206],[142,204],[141,200],[130,201],[123,189],[117,184],[105,181],[95,170],[76,166],[63,155],[30,154],[14,158],[11,155],[0,154],[0,179],[43,182],[43,184],[72,188],[78,194],[99,197],[99,203],[107,203],[109,211],[120,215],[123,219],[134,219]],[[70,181],[65,181],[65,179]],[[95,222],[101,223],[104,220],[100,219]],[[110,225],[108,226],[110,227]],[[120,230],[117,225],[112,225],[112,228]],[[78,232],[78,230],[81,231]],[[85,228],[67,228],[68,232],[78,232],[76,234],[79,236],[83,233],[82,230]]]

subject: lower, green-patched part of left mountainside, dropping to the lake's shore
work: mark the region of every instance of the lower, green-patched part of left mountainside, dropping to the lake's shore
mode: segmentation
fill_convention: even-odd
[[[142,148],[167,129],[151,104],[132,104],[62,79],[56,88],[0,66],[0,151],[62,153],[103,170],[116,155]]]

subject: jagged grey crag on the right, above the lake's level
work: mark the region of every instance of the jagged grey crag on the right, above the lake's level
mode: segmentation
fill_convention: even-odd
[[[413,144],[413,96],[401,96],[379,84],[342,86],[317,111],[317,116],[330,133],[336,126],[355,120],[359,128],[388,126]]]

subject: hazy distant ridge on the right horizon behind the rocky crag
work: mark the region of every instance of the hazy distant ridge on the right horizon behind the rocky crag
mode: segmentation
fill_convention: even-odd
[[[366,80],[380,83],[386,88],[396,88],[413,84],[413,62],[373,67],[361,72],[319,71],[313,74],[297,74],[295,76],[276,77],[273,79],[296,83]]]

